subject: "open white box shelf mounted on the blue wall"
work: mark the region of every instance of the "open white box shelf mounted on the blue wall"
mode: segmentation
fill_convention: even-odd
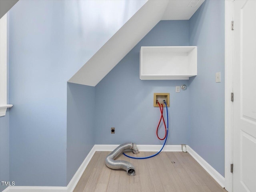
[[[140,48],[141,80],[188,80],[196,75],[196,46]]]

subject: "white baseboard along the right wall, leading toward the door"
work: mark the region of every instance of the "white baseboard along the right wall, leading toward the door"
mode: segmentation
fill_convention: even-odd
[[[224,188],[225,186],[225,178],[218,172],[216,171],[206,160],[204,160],[200,155],[198,155],[190,146],[186,146],[187,152],[206,170],[220,186]]]

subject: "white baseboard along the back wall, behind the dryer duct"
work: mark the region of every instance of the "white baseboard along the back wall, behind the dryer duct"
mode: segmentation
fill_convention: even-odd
[[[113,151],[119,145],[94,145],[96,151]],[[139,151],[158,152],[162,145],[137,145]],[[181,145],[165,145],[162,151],[182,151]]]

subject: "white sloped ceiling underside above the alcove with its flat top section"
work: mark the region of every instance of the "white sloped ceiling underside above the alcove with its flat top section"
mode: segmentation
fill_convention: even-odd
[[[188,20],[203,2],[149,0],[68,82],[96,86],[160,20]]]

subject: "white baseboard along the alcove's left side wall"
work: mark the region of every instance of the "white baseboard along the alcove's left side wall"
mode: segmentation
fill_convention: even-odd
[[[72,192],[74,190],[74,188],[76,187],[76,184],[78,183],[82,174],[84,173],[84,170],[86,169],[88,163],[92,159],[92,156],[94,155],[95,151],[96,150],[94,145],[90,150],[90,152],[88,153],[88,155],[86,156],[86,158],[84,159],[84,161],[82,162],[82,164],[80,165],[80,167],[78,168],[78,170],[76,171],[76,173],[74,174],[73,178],[70,180],[67,186],[67,192]]]

